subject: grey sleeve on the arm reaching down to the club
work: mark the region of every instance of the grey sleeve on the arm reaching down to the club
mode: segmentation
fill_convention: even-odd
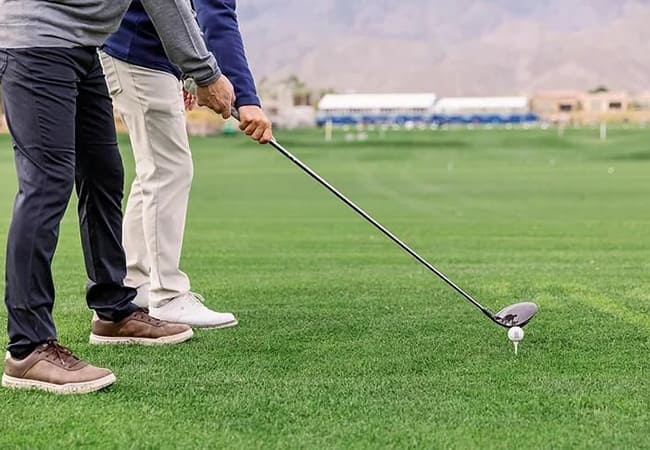
[[[141,0],[170,61],[199,86],[221,76],[215,57],[208,51],[187,0]]]

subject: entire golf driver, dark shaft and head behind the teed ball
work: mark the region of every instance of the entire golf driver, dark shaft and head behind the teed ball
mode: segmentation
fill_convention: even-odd
[[[239,113],[235,108],[232,109],[231,114],[235,119],[239,120]],[[422,264],[424,267],[429,269],[429,271],[433,272],[442,281],[444,281],[449,286],[451,286],[452,289],[454,289],[456,292],[462,295],[472,305],[477,307],[492,322],[505,328],[512,328],[515,326],[524,327],[528,322],[530,322],[530,320],[535,316],[535,314],[539,310],[539,307],[535,303],[526,302],[526,303],[516,303],[514,305],[507,306],[503,308],[501,311],[499,311],[498,313],[494,314],[485,306],[481,305],[476,299],[474,299],[474,297],[472,297],[463,289],[461,289],[460,286],[458,286],[451,279],[449,279],[444,273],[436,269],[426,259],[424,259],[422,256],[417,254],[413,249],[411,249],[404,242],[402,242],[402,240],[399,239],[397,236],[395,236],[390,230],[388,230],[388,228],[384,227],[382,224],[377,222],[370,214],[365,212],[356,203],[354,203],[352,200],[350,200],[341,192],[339,192],[334,186],[332,186],[329,182],[327,182],[327,180],[325,180],[323,177],[321,177],[316,172],[314,172],[311,168],[309,168],[309,166],[307,166],[305,163],[303,163],[298,158],[296,158],[290,151],[285,149],[276,140],[272,140],[271,142],[269,142],[269,144],[271,145],[271,147],[273,147],[279,153],[281,153],[287,159],[289,159],[292,163],[298,166],[303,172],[305,172],[307,175],[309,175],[318,183],[320,183],[322,186],[324,186],[328,191],[330,191],[332,194],[338,197],[339,200],[341,200],[343,203],[348,205],[352,210],[354,210],[354,212],[359,214],[366,221],[370,222],[372,226],[374,226],[376,229],[381,231],[382,234],[384,234],[387,238],[389,238],[391,241],[397,244],[402,250],[404,250],[406,253],[411,255],[420,264]]]

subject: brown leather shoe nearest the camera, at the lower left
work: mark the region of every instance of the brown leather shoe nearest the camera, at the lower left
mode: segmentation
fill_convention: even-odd
[[[56,341],[37,347],[27,358],[5,357],[2,385],[14,389],[38,389],[55,394],[87,394],[115,383],[108,369],[77,358]]]

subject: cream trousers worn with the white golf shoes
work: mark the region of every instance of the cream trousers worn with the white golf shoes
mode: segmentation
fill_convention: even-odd
[[[125,281],[150,282],[150,304],[157,306],[190,290],[179,269],[193,176],[180,83],[105,54],[102,63],[136,163],[124,217]]]

